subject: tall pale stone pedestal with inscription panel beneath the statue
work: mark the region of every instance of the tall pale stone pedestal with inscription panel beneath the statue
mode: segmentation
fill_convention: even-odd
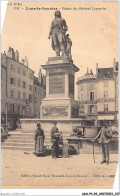
[[[42,100],[41,118],[77,117],[74,81],[79,68],[64,56],[48,58],[42,68],[46,70],[46,98]]]

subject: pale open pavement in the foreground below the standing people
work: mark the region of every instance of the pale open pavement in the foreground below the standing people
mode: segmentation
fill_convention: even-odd
[[[72,155],[52,159],[33,152],[1,150],[1,188],[113,188],[118,154],[110,154],[110,164],[100,164],[101,154]]]

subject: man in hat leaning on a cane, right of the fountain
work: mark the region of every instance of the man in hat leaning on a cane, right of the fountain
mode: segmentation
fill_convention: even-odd
[[[95,142],[99,138],[99,143],[102,144],[102,157],[103,160],[101,164],[106,163],[109,164],[109,143],[112,138],[112,129],[108,126],[108,122],[103,121],[103,127],[101,128],[98,135],[95,137],[93,142]]]

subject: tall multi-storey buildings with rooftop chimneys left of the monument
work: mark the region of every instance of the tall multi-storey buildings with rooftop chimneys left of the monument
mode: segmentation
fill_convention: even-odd
[[[28,67],[27,57],[20,62],[18,51],[9,47],[7,54],[1,54],[1,113],[4,122],[6,117],[9,125],[9,121],[17,118],[36,116],[34,102],[37,99],[40,103],[45,87],[41,86],[40,97],[37,97],[39,93],[34,96],[35,85],[34,71]],[[37,105],[37,113],[38,110],[40,112],[40,105]]]

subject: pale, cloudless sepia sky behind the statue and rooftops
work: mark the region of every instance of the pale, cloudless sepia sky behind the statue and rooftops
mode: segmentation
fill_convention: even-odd
[[[55,56],[48,39],[55,10],[45,8],[59,9],[66,20],[73,62],[80,69],[76,80],[86,73],[87,67],[95,73],[96,63],[99,67],[112,67],[113,59],[118,60],[118,2],[18,1],[22,3],[19,10],[15,9],[15,2],[9,3],[12,5],[7,7],[2,28],[2,52],[11,46],[19,51],[20,61],[27,56],[36,76],[48,57]],[[37,7],[44,10],[30,10]],[[45,74],[45,70],[42,72]]]

